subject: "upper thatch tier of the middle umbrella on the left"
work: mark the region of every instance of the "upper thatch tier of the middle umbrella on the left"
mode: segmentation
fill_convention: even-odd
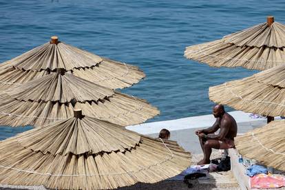
[[[98,101],[112,96],[112,89],[96,85],[72,74],[49,74],[5,91],[19,101]]]

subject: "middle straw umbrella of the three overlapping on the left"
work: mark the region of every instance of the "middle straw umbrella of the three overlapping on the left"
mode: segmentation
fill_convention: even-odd
[[[72,116],[74,107],[82,108],[87,116],[123,126],[159,114],[147,101],[58,69],[0,94],[0,125],[38,127]]]

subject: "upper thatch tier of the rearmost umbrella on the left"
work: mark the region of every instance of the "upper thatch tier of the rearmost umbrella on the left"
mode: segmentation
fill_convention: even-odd
[[[2,68],[14,67],[18,70],[73,70],[79,67],[92,67],[102,61],[100,56],[91,54],[72,45],[59,42],[44,43],[20,56],[1,64]]]

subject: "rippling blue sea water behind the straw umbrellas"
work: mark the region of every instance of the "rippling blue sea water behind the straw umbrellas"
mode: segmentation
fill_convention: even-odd
[[[160,116],[149,121],[210,114],[209,86],[256,71],[190,61],[184,48],[265,22],[268,15],[285,23],[284,9],[281,0],[0,0],[0,62],[57,35],[65,43],[140,67],[147,78],[122,91],[160,109]],[[0,139],[21,130],[7,127]]]

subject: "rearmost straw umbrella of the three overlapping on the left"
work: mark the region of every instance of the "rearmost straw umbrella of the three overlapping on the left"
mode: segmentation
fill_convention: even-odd
[[[97,56],[52,36],[50,42],[1,63],[0,90],[51,74],[58,68],[112,89],[129,87],[145,77],[138,67]]]

